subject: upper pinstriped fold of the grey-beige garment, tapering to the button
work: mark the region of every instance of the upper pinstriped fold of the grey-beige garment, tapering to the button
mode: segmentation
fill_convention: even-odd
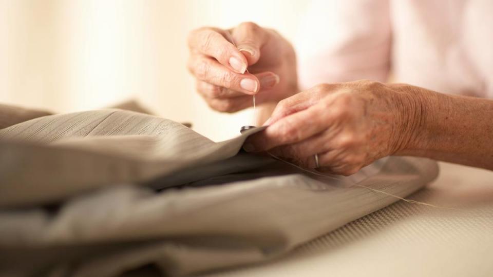
[[[0,206],[57,200],[104,184],[150,181],[223,160],[234,156],[252,131],[214,143],[179,123],[122,110],[35,118],[0,130]]]

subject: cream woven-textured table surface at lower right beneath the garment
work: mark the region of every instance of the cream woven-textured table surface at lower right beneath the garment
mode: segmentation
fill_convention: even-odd
[[[493,171],[440,163],[435,182],[289,254],[208,276],[493,276]]]

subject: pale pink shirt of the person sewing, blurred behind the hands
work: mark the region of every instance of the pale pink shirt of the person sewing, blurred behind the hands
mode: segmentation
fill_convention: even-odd
[[[493,98],[492,0],[315,0],[296,48],[303,89],[390,77]]]

